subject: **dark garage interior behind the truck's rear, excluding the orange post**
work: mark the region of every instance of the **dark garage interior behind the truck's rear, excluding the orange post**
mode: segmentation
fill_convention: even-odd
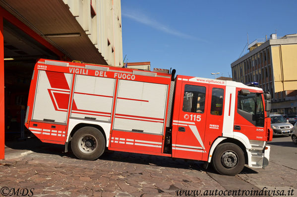
[[[59,57],[35,39],[3,19],[5,140],[24,138],[24,118],[31,77],[39,58]]]

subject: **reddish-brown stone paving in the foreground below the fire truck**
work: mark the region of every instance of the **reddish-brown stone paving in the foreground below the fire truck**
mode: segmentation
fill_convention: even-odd
[[[177,196],[179,189],[224,190],[195,161],[124,152],[84,161],[44,145],[51,147],[52,152],[25,151],[0,160],[0,188],[34,188],[34,197],[166,197]]]

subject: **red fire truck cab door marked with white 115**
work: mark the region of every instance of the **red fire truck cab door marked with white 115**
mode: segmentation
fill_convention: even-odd
[[[173,141],[173,157],[201,160],[207,118],[209,85],[182,82],[178,120],[173,121],[177,131]]]

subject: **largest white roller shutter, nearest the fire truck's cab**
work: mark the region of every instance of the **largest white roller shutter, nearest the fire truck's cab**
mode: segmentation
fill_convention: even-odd
[[[162,134],[168,85],[119,80],[115,130]]]

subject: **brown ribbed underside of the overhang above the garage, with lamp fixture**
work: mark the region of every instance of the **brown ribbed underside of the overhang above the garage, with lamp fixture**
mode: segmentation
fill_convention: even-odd
[[[107,65],[63,0],[0,0],[1,7],[65,54],[64,58]]]

